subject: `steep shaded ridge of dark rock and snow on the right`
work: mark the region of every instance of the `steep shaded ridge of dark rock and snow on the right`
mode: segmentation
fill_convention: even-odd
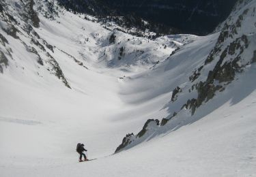
[[[171,122],[176,126],[179,119],[184,121],[184,114],[191,112],[193,116],[197,108],[207,106],[207,102],[215,95],[221,95],[233,80],[239,80],[237,74],[250,70],[248,68],[256,62],[255,13],[255,2],[238,2],[231,16],[223,22],[223,28],[208,57],[199,63],[199,67],[195,67],[186,82],[173,89],[169,103],[171,116],[163,118],[161,122],[158,119],[147,120],[137,135],[126,135],[115,152],[169,131],[173,126]],[[175,55],[169,57],[169,60],[175,60]],[[166,128],[168,126],[170,128]]]

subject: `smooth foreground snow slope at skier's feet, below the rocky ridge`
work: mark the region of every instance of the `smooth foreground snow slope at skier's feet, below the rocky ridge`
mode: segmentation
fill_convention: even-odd
[[[33,161],[1,171],[4,176],[255,176],[255,96],[233,106],[228,102],[191,125],[117,155],[43,166]]]

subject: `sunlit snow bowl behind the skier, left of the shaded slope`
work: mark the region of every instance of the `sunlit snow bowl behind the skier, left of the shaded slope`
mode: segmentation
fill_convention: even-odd
[[[109,44],[108,37],[112,31],[65,10],[56,10],[57,15],[53,19],[46,18],[42,11],[38,14],[40,27],[31,30],[27,24],[33,24],[20,15],[25,13],[23,6],[25,8],[26,4],[16,1],[5,3],[7,10],[1,14],[0,30],[8,42],[1,45],[1,51],[8,58],[8,65],[3,65],[0,76],[3,98],[1,140],[4,142],[1,144],[1,164],[12,158],[16,162],[11,160],[10,164],[21,164],[27,159],[59,158],[60,155],[70,156],[76,161],[74,144],[77,142],[87,142],[89,149],[94,147],[94,157],[113,153],[126,128],[137,131],[150,116],[137,121],[130,119],[126,124],[115,121],[119,114],[133,112],[133,106],[119,97],[122,84],[119,77],[156,65],[154,60],[165,60],[175,46],[182,43],[169,37],[152,41],[116,31],[115,44]],[[36,5],[47,10],[47,4],[38,1]],[[10,16],[16,20],[12,21]],[[4,30],[12,25],[20,31],[16,38]],[[35,45],[36,42],[40,44]],[[164,49],[162,44],[167,47]],[[53,51],[46,45],[52,46]],[[124,59],[119,60],[115,50],[121,45],[129,50]],[[29,51],[34,48],[37,52],[28,52],[27,48]],[[145,52],[137,54],[137,50]],[[102,57],[104,51],[106,54]],[[144,61],[137,59],[136,54],[138,57],[145,55]],[[38,58],[43,65],[38,63]],[[56,73],[59,70],[55,70],[56,64],[52,65],[51,59],[55,59],[57,68],[61,69],[62,78],[58,78]],[[132,63],[130,67],[129,63]],[[112,67],[118,68],[109,69]],[[71,89],[61,82],[63,80]],[[18,150],[14,150],[16,144],[19,144]]]

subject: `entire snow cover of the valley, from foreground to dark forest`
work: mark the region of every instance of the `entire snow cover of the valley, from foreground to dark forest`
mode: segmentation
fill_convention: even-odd
[[[221,32],[153,41],[107,31],[57,4],[50,11],[40,1],[33,6],[40,19],[35,27],[33,18],[24,18],[26,3],[1,5],[1,61],[3,54],[8,59],[0,74],[1,176],[255,175],[255,63],[193,116],[182,110],[167,125],[152,125],[132,144],[137,146],[113,155],[123,135],[139,132],[149,118],[169,118],[197,97],[188,93],[188,78],[205,63]],[[247,7],[253,10],[256,2],[242,10]],[[253,17],[246,19],[251,24]],[[8,32],[12,25],[16,35]],[[255,27],[251,31],[248,51],[255,47]],[[183,92],[171,103],[176,86]],[[78,163],[77,142],[85,142],[89,159],[97,159]]]

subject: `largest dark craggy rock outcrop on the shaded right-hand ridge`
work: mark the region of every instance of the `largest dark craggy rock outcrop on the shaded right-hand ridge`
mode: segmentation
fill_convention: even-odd
[[[198,97],[197,99],[188,100],[188,102],[184,105],[186,108],[189,108],[192,114],[195,113],[196,108],[201,106],[203,101],[208,101],[212,99],[216,93],[216,91],[223,91],[223,86],[220,84],[215,85],[214,80],[217,80],[219,83],[222,82],[231,82],[235,76],[236,72],[242,71],[244,66],[240,66],[238,62],[241,60],[241,55],[246,48],[248,48],[248,39],[245,35],[242,37],[238,37],[237,39],[233,40],[227,48],[221,50],[221,44],[216,44],[220,46],[220,48],[214,48],[212,52],[209,54],[208,58],[206,59],[205,63],[210,63],[213,59],[221,53],[218,62],[216,63],[214,69],[209,71],[208,78],[205,82],[199,82],[196,85]],[[230,61],[225,61],[224,59],[227,55],[232,56]],[[211,61],[209,61],[211,59]]]

